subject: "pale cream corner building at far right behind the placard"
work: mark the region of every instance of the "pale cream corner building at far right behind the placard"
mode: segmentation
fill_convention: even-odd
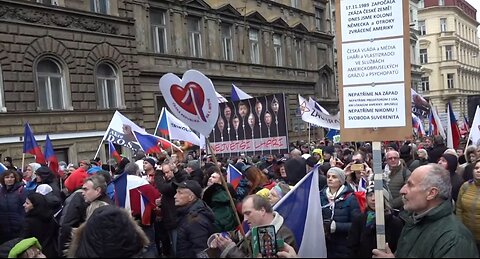
[[[439,112],[445,112],[450,102],[459,116],[467,114],[467,97],[480,94],[479,23],[473,7],[465,3],[426,1],[418,12],[423,72],[419,92]]]

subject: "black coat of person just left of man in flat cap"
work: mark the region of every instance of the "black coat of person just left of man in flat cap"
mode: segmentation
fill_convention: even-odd
[[[169,181],[165,180],[162,172],[155,175],[155,185],[157,186],[157,190],[162,194],[160,216],[167,230],[172,230],[177,227],[177,208],[175,207],[174,198],[177,193],[177,188],[173,182],[180,183],[187,180],[187,178],[187,174],[182,172],[176,173]]]

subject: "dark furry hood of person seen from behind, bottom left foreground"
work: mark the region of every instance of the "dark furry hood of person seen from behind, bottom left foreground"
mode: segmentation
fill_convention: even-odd
[[[114,205],[95,209],[73,230],[67,257],[138,257],[149,240],[128,211]]]

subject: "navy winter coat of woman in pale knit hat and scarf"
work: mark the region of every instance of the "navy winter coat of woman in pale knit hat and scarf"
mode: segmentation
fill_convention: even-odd
[[[336,196],[334,206],[331,206],[328,201],[326,193],[328,187],[320,191],[323,220],[324,222],[326,220],[335,221],[336,226],[335,232],[325,237],[328,258],[345,258],[349,256],[350,252],[347,243],[348,231],[350,230],[353,219],[360,214],[360,206],[357,198],[353,194],[352,188],[348,185],[344,186],[343,191]],[[332,208],[334,211],[332,211]],[[330,225],[327,225],[327,227],[330,227]],[[325,231],[329,232],[328,229]]]

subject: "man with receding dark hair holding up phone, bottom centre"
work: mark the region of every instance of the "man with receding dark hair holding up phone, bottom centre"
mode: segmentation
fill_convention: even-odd
[[[275,226],[277,239],[284,240],[285,244],[296,249],[297,244],[293,232],[284,224],[283,217],[273,211],[267,199],[253,194],[247,196],[242,203],[244,220],[249,228],[273,225]],[[251,258],[252,236],[250,232],[245,234],[243,239],[238,231],[228,232],[228,235],[214,234],[209,247],[219,249],[222,258]]]

